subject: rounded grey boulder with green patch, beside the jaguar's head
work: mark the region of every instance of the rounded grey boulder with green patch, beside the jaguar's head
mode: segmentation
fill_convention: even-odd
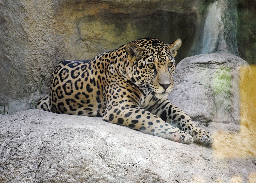
[[[174,80],[169,99],[192,119],[256,124],[256,110],[249,98],[256,82],[242,58],[229,53],[187,57],[176,66]]]

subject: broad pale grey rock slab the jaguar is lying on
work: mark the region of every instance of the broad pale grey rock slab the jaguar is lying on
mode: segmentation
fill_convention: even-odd
[[[36,109],[0,115],[0,182],[255,182],[255,133],[220,123],[201,127],[213,133],[212,148],[101,118]]]

